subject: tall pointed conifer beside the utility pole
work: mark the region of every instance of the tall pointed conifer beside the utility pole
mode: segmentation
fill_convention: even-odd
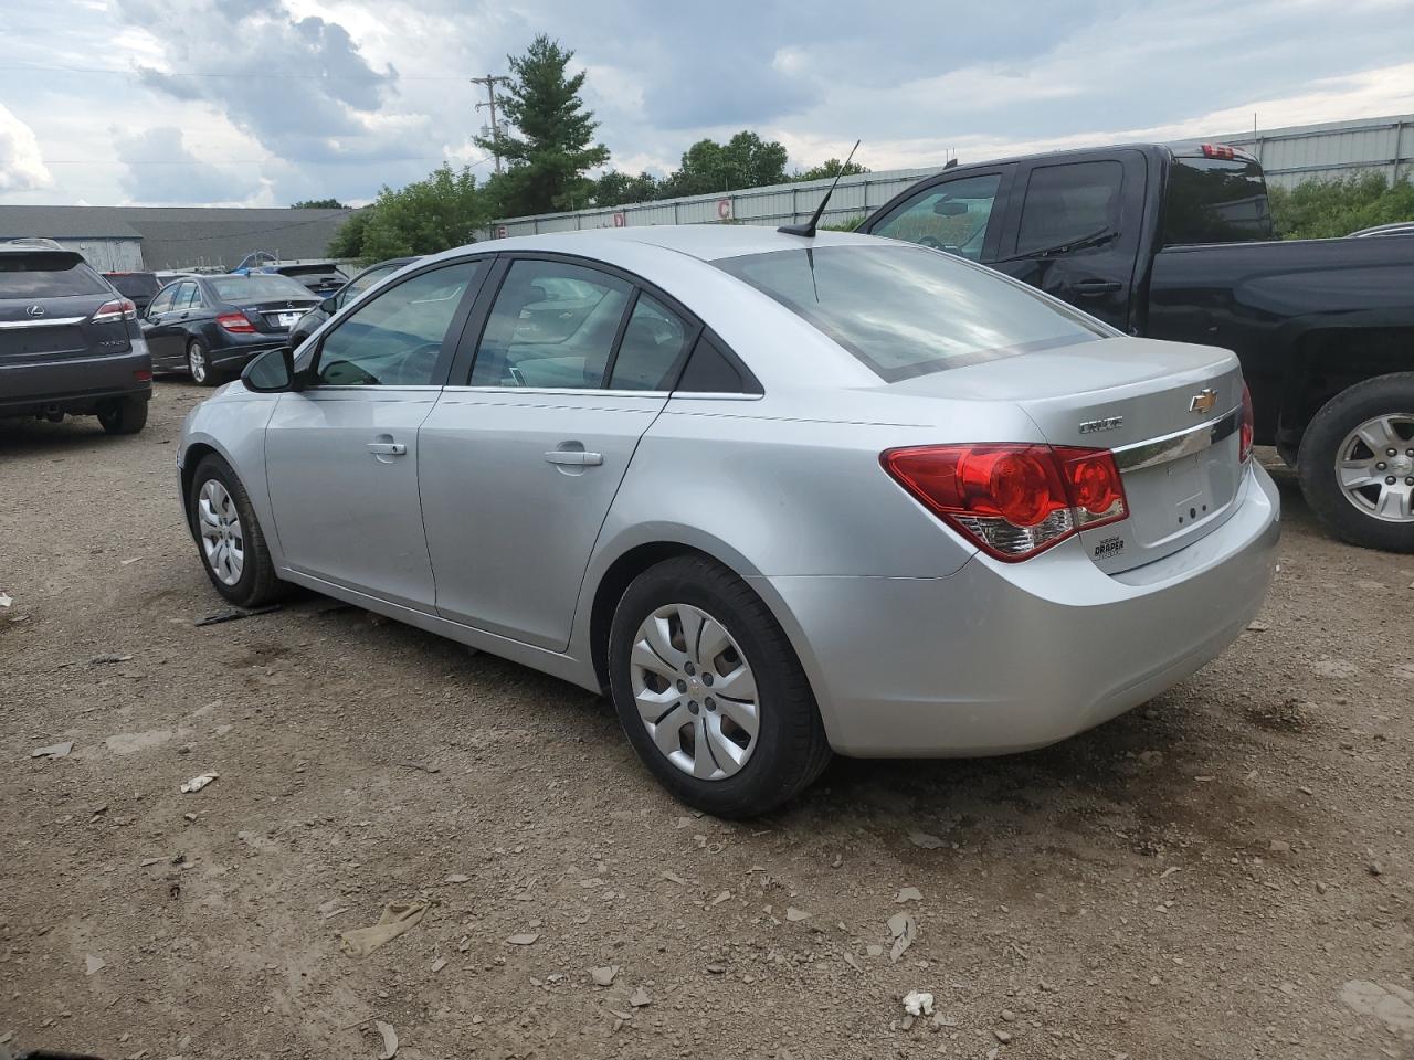
[[[519,134],[496,130],[477,139],[509,163],[496,181],[503,216],[584,206],[594,194],[594,181],[584,174],[609,160],[608,148],[594,143],[594,112],[580,99],[584,72],[566,73],[573,58],[544,34],[525,55],[508,57],[512,81],[502,106]]]

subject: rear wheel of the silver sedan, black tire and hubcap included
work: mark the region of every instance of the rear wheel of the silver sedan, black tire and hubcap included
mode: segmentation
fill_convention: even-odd
[[[690,629],[699,630],[696,646]],[[643,652],[652,652],[648,667]],[[666,560],[632,581],[614,612],[608,663],[629,743],[691,807],[725,818],[768,813],[830,760],[810,683],[785,632],[745,581],[706,557]]]

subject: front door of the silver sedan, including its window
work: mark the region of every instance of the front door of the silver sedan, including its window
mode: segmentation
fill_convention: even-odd
[[[485,269],[443,264],[382,291],[322,338],[312,384],[280,396],[266,430],[266,476],[280,548],[296,571],[433,611],[417,431]]]

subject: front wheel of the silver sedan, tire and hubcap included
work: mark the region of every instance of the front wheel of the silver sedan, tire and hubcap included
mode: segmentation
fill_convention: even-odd
[[[238,608],[259,608],[284,595],[250,496],[221,457],[204,457],[191,478],[187,513],[201,565],[211,584]]]

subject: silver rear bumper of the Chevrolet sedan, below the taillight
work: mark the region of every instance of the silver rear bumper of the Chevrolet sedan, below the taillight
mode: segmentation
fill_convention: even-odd
[[[861,756],[1045,746],[1158,695],[1260,609],[1280,497],[1253,464],[1240,506],[1186,548],[1118,575],[1079,541],[946,578],[751,578],[812,680],[831,746]]]

